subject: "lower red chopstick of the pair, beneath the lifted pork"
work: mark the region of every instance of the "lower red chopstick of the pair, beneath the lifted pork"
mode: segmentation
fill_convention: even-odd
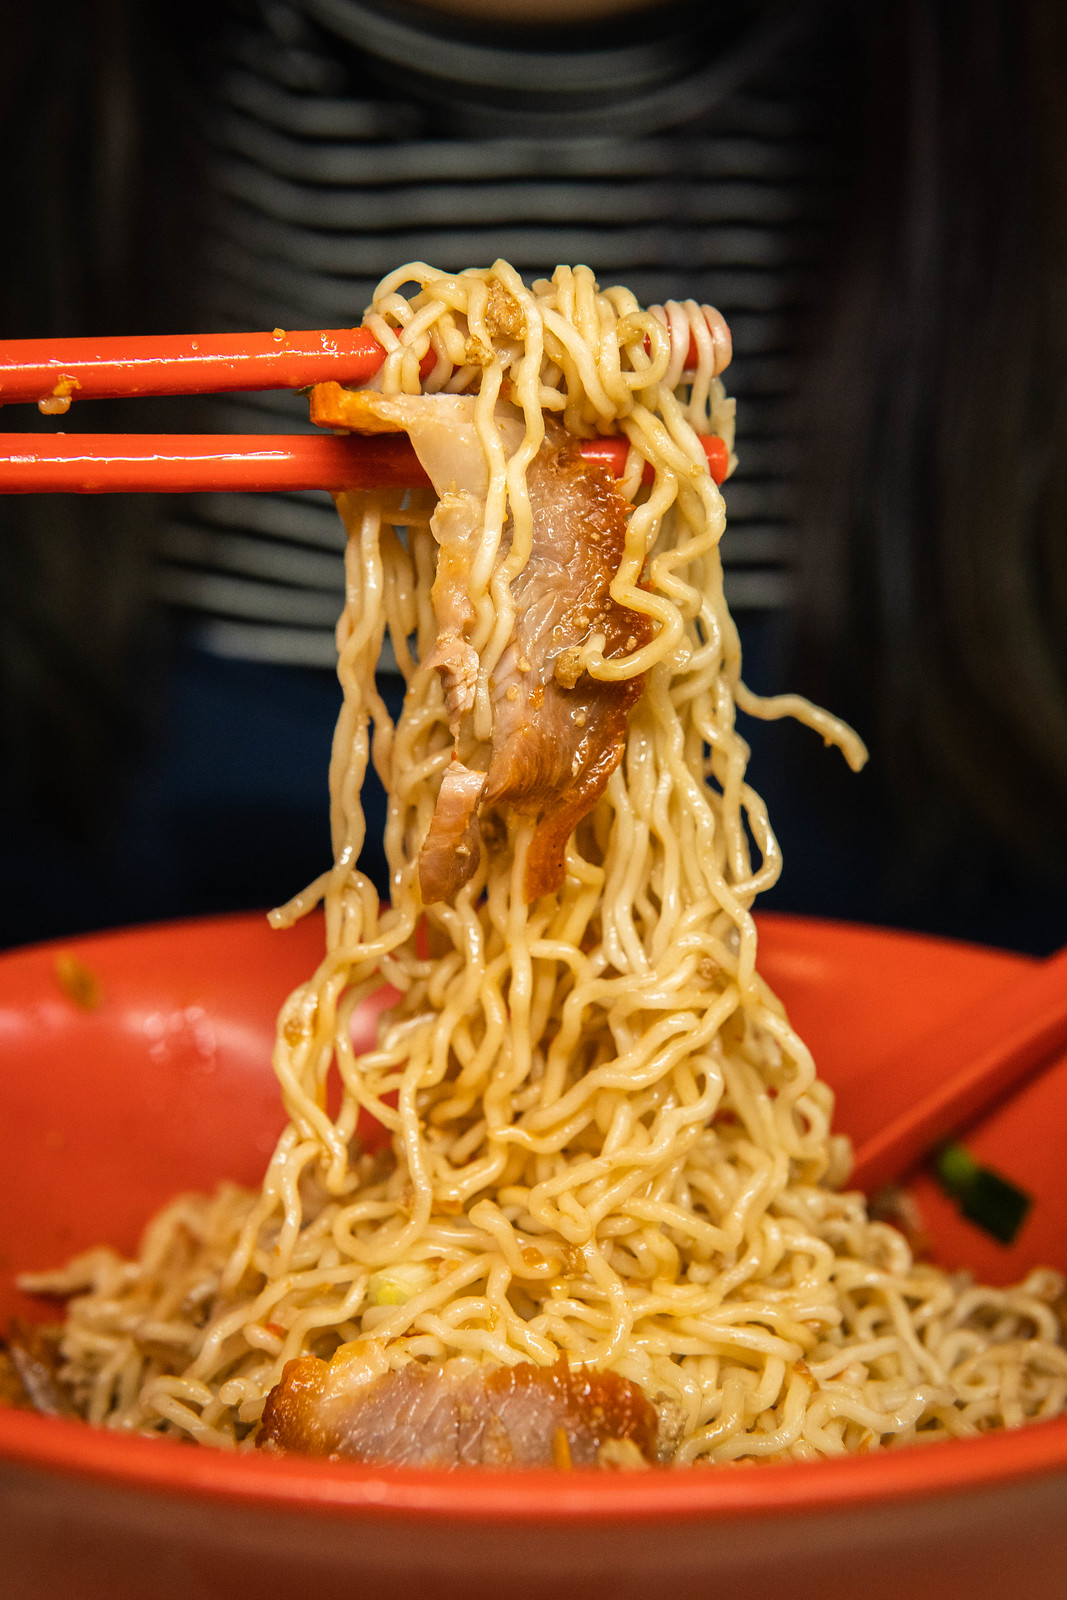
[[[728,451],[702,440],[712,477]],[[582,440],[616,477],[627,440]],[[648,472],[651,477],[651,472]],[[0,434],[0,494],[190,494],[211,490],[418,488],[429,480],[403,434]]]

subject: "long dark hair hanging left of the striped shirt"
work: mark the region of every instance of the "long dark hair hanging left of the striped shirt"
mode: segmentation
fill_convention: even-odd
[[[165,24],[166,10],[0,0],[6,338],[186,322],[195,184],[186,40],[206,8],[181,8],[184,35]],[[182,426],[173,406],[155,416]],[[11,406],[0,426],[53,424]],[[146,402],[86,402],[78,413],[88,430],[152,426]],[[150,704],[150,526],[142,496],[0,498],[0,803],[66,829],[107,822]]]

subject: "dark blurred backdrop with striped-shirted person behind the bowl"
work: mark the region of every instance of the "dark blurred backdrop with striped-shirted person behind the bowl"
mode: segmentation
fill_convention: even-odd
[[[0,336],[355,323],[416,256],[718,304],[745,677],[872,750],[745,728],[766,902],[1067,942],[1067,8],[472,10],[0,0]],[[0,499],[0,942],[322,870],[341,594],[325,496]]]

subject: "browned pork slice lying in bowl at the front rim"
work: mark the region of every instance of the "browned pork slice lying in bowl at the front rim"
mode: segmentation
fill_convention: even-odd
[[[267,1395],[262,1450],[406,1467],[597,1467],[657,1459],[657,1413],[617,1373],[410,1362],[366,1381],[346,1347],[288,1362]],[[352,1381],[355,1376],[355,1382]]]

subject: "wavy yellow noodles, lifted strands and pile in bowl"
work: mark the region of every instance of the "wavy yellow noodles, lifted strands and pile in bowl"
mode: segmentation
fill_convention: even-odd
[[[290,1122],[259,1194],[182,1195],[136,1261],[96,1250],[26,1280],[74,1296],[61,1374],[80,1413],[250,1448],[286,1363],[342,1346],[368,1379],[451,1358],[617,1373],[670,1418],[680,1464],[814,1459],[1061,1411],[1062,1280],[971,1286],[917,1264],[841,1192],[832,1094],[757,971],[752,904],[781,858],[736,710],[798,717],[853,766],[865,752],[825,712],[741,680],[723,501],[697,438],[733,446],[721,318],[641,310],[584,267],[530,290],[498,262],[402,267],[366,325],[389,352],[386,397],[474,397],[467,706],[432,658],[437,494],[339,496],[334,866],[272,918],[325,901],[326,955],[278,1019]],[[683,378],[689,336],[699,366]],[[574,670],[640,698],[560,888],[528,902],[537,818],[501,803],[474,874],[424,904],[443,778],[454,757],[485,770],[530,557],[528,470],[558,422],[630,442],[611,595],[635,630],[614,651],[590,630]],[[406,680],[395,725],[374,690],[386,632]],[[357,867],[368,760],[389,797],[389,906]],[[352,1014],[382,981],[400,998],[355,1056]],[[362,1110],[389,1130],[384,1152],[360,1150]]]

